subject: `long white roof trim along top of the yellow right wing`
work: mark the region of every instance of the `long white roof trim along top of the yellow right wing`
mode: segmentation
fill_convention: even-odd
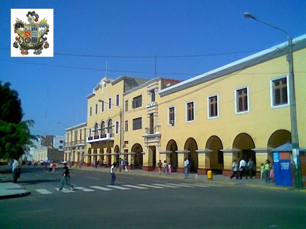
[[[299,49],[305,48],[306,47],[306,35],[302,35],[300,37],[293,39],[292,43],[293,43],[293,51],[297,51]],[[238,70],[252,67],[256,64],[263,63],[265,61],[277,58],[279,56],[284,55],[287,52],[287,49],[286,49],[287,47],[288,47],[288,42],[284,42],[282,44],[276,45],[269,49],[263,50],[259,53],[255,53],[251,56],[247,56],[240,60],[234,61],[230,64],[226,64],[222,67],[218,67],[214,70],[208,71],[201,75],[195,76],[183,82],[172,85],[168,88],[165,88],[159,91],[158,94],[160,94],[160,96],[166,96],[171,93],[175,93],[175,92],[190,88],[192,86],[198,85],[200,83],[207,82],[209,80],[212,80],[212,79],[215,79],[215,78],[227,75],[227,74],[234,73]]]

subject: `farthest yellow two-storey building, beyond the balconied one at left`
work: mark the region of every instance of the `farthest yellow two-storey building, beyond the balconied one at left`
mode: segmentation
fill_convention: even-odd
[[[64,160],[72,164],[80,165],[85,161],[86,152],[86,126],[81,123],[65,129],[66,140],[64,144]]]

